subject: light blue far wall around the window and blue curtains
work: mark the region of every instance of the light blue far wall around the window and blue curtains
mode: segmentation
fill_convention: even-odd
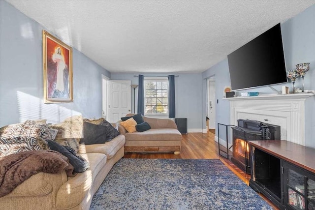
[[[138,84],[138,75],[135,73],[112,73],[112,80],[131,80],[131,84]],[[175,77],[175,101],[176,101],[176,118],[187,118],[188,129],[198,129],[201,132],[202,122],[206,116],[202,115],[202,81],[201,73],[140,73],[146,76],[166,76],[178,75]],[[132,109],[133,110],[133,90]],[[136,106],[137,106],[138,89],[136,89]],[[196,131],[196,130],[195,130]]]

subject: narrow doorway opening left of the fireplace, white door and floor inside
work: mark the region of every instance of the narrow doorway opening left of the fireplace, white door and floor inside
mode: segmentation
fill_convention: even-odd
[[[207,80],[207,131],[216,133],[216,78],[215,75]],[[208,120],[209,119],[209,120]]]

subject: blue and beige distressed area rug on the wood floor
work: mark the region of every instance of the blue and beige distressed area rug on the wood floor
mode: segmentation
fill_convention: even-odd
[[[273,210],[218,159],[121,159],[91,210]]]

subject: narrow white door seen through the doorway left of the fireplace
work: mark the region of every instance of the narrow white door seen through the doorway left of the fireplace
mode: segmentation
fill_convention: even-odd
[[[216,81],[209,79],[209,129],[216,129]]]

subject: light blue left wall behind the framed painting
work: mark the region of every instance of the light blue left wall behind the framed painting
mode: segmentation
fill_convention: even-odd
[[[73,49],[73,103],[43,103],[42,30],[0,1],[0,126],[28,119],[56,122],[82,114],[101,117],[101,74],[110,72]],[[67,43],[69,44],[69,43]]]

